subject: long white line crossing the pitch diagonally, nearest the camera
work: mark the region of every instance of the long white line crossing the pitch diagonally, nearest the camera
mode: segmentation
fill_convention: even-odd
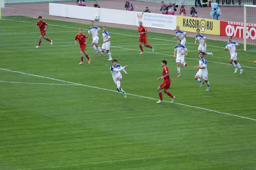
[[[25,74],[25,75],[35,76],[35,77],[41,77],[41,78],[44,78],[44,79],[52,79],[52,80],[55,80],[55,81],[66,82],[66,83],[70,83],[70,84],[73,84],[73,85],[81,85],[81,86],[90,87],[90,88],[97,88],[97,89],[101,89],[101,90],[105,90],[105,91],[117,92],[117,91],[113,91],[113,90],[106,89],[106,88],[99,88],[99,87],[90,86],[90,85],[83,85],[83,84],[79,84],[79,83],[75,83],[75,82],[68,82],[68,81],[64,81],[64,80],[60,80],[60,79],[53,79],[53,78],[50,78],[50,77],[44,77],[44,76],[38,76],[38,75],[35,75],[35,74],[23,73],[23,72],[20,72],[20,71],[12,71],[12,70],[8,70],[8,69],[4,69],[4,68],[0,68],[0,70],[10,71],[10,72],[14,72],[14,73],[20,73],[20,74]],[[159,100],[159,99],[154,99],[154,98],[151,98],[151,97],[140,96],[140,95],[135,95],[135,94],[128,94],[128,95],[137,96],[137,97],[141,97],[141,98],[145,98],[145,99]],[[165,101],[165,102],[172,103],[170,101]],[[243,119],[250,119],[250,120],[256,121],[256,119],[252,119],[252,118],[249,118],[249,117],[244,117],[244,116],[239,116],[239,115],[235,115],[235,114],[214,111],[214,110],[211,110],[211,109],[200,108],[200,107],[185,105],[185,104],[176,103],[176,102],[174,102],[173,104],[187,106],[187,107],[191,107],[191,108],[197,108],[197,109],[201,109],[201,110],[204,110],[204,111],[212,111],[212,112],[215,112],[215,113],[221,113],[221,114],[226,114],[226,115],[229,115],[229,116],[236,116],[236,117],[240,117],[240,118],[243,118]]]

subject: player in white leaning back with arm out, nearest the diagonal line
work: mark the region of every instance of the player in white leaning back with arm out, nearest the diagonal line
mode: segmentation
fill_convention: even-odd
[[[123,89],[121,88],[121,84],[120,81],[122,79],[122,74],[120,73],[120,71],[122,70],[123,72],[125,72],[126,76],[128,76],[128,73],[125,71],[125,68],[128,67],[128,65],[125,65],[124,67],[122,67],[121,65],[117,64],[117,60],[113,59],[112,64],[110,66],[110,71],[113,77],[113,80],[117,86],[116,90],[118,92],[122,92],[124,94],[124,97],[126,98],[126,94],[125,91],[123,91]]]

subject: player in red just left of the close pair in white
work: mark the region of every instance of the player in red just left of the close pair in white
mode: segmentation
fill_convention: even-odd
[[[86,49],[85,49],[86,45],[87,45],[87,41],[88,41],[88,36],[86,34],[82,33],[82,28],[78,29],[78,34],[76,34],[76,37],[75,37],[75,45],[77,45],[76,40],[79,41],[80,48],[81,48],[81,51],[80,51],[80,53],[81,53],[81,62],[79,64],[84,63],[84,55],[88,59],[88,63],[90,64],[90,58],[88,57],[88,54],[86,53]]]

